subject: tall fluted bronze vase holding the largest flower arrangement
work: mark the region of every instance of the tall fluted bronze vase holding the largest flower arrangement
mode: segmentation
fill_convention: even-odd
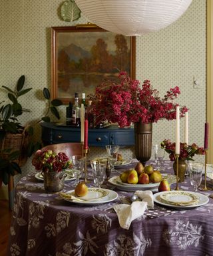
[[[152,155],[152,123],[134,123],[134,149],[136,159],[146,165]]]

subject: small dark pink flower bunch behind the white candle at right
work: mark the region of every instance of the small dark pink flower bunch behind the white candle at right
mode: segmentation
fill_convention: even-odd
[[[171,161],[175,160],[175,142],[171,142],[170,139],[164,139],[161,143],[161,147],[165,149],[169,154]],[[180,155],[179,159],[193,160],[194,155],[204,155],[205,150],[203,147],[198,147],[195,143],[187,145],[186,143],[180,143]]]

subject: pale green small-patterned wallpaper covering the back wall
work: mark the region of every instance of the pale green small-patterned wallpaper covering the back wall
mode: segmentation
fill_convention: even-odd
[[[23,106],[31,109],[21,117],[23,123],[36,121],[45,111],[43,87],[51,89],[51,29],[87,23],[73,23],[59,15],[63,1],[7,0],[0,2],[0,86],[13,87],[20,75],[26,76],[26,87],[33,87]],[[193,87],[193,79],[200,83]],[[190,143],[204,141],[206,117],[206,0],[193,0],[178,21],[156,33],[136,38],[136,78],[150,79],[161,95],[178,85],[182,91],[178,102],[190,108]],[[0,89],[0,101],[5,93]],[[65,107],[61,107],[64,118]],[[184,138],[184,120],[181,120]],[[37,125],[37,137],[41,129]],[[175,138],[175,122],[154,124],[153,143]],[[94,153],[97,149],[94,149]],[[132,155],[132,152],[130,151]],[[30,163],[23,173],[31,169]]]

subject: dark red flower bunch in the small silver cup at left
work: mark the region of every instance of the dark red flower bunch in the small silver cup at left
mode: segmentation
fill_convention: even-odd
[[[37,171],[62,171],[67,167],[72,167],[72,161],[63,152],[58,154],[53,153],[51,150],[41,151],[37,150],[33,159],[32,164],[35,166]]]

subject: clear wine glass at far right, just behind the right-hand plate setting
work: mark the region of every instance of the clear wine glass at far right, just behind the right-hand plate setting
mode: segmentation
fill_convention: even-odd
[[[202,170],[204,169],[203,163],[190,163],[189,177],[190,183],[194,187],[194,191],[198,191],[198,186],[202,181]]]

